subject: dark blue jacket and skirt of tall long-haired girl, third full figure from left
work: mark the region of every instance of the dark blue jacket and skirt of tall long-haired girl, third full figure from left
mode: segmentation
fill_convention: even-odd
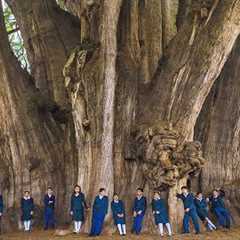
[[[87,208],[85,195],[82,192],[78,196],[73,194],[71,197],[71,212],[74,221],[84,221],[84,207]]]

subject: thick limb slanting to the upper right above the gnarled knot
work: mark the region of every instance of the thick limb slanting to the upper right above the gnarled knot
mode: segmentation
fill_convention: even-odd
[[[239,11],[239,0],[221,1],[192,46],[189,26],[183,27],[169,47],[164,68],[143,91],[140,122],[170,121],[185,138],[192,137],[205,97],[240,32]]]

